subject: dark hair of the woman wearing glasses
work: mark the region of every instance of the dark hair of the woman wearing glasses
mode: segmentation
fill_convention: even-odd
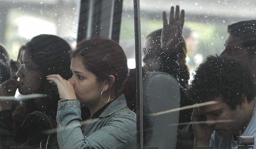
[[[41,85],[42,93],[59,97],[57,87],[48,83],[46,76],[60,74],[65,79],[72,76],[68,55],[71,47],[67,41],[55,35],[41,34],[30,39],[23,48],[33,62],[41,68],[44,76]]]

